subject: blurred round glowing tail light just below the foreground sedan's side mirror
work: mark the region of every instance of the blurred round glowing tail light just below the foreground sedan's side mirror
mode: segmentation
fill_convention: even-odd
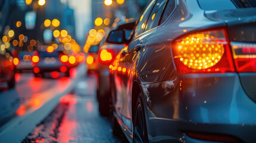
[[[111,63],[114,59],[114,51],[113,49],[102,49],[98,57],[100,63]]]

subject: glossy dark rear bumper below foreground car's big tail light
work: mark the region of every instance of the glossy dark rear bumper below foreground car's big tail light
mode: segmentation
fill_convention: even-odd
[[[186,131],[256,141],[256,103],[246,95],[237,73],[178,74],[173,80],[142,86],[153,142],[162,137],[203,142],[189,138]]]

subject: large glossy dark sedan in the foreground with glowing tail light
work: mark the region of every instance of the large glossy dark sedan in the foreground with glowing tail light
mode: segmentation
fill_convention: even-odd
[[[255,142],[255,7],[151,1],[110,69],[113,132],[121,126],[129,142]]]

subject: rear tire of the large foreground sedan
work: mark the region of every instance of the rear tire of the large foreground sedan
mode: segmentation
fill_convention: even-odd
[[[149,142],[147,137],[147,126],[146,126],[146,117],[143,106],[143,100],[141,94],[138,95],[138,99],[135,106],[134,114],[134,133],[133,133],[133,142]]]

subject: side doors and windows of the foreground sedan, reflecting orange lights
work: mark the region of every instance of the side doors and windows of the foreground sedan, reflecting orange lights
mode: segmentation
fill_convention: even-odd
[[[132,83],[137,76],[137,61],[143,52],[147,39],[155,32],[158,26],[159,18],[161,17],[165,1],[156,0],[150,2],[134,30],[134,36],[128,47],[120,54],[119,67],[115,75],[116,97],[119,104],[116,104],[116,111],[119,117],[124,122],[125,127],[132,130],[131,120],[131,89]],[[159,7],[160,4],[161,7]],[[161,10],[162,8],[162,10]],[[159,12],[161,11],[161,12]],[[152,18],[153,17],[153,18]],[[156,19],[155,19],[156,17]],[[158,20],[157,20],[158,19]],[[152,24],[155,23],[155,24]]]

